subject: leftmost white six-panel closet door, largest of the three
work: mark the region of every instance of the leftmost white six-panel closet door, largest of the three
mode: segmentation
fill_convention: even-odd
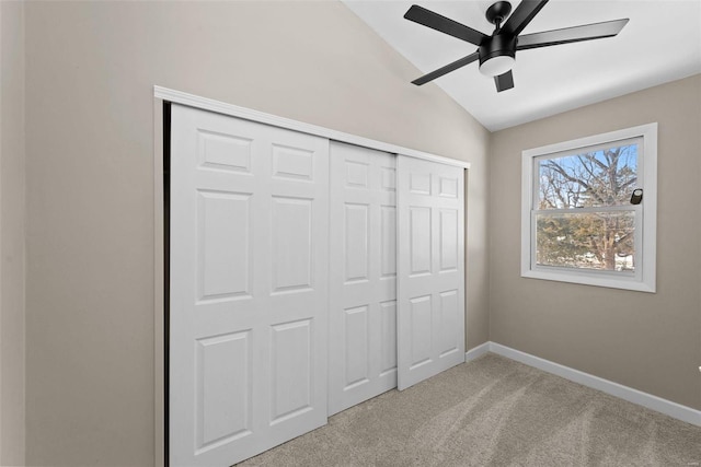
[[[172,107],[170,463],[326,422],[329,142]]]

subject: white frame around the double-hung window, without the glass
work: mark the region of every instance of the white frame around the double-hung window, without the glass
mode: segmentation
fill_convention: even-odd
[[[643,189],[643,201],[635,208],[642,225],[635,231],[635,249],[640,250],[634,275],[573,268],[539,266],[536,264],[536,225],[533,202],[536,199],[535,165],[543,156],[554,157],[561,152],[573,153],[578,149],[617,141],[642,138],[639,149],[637,188]],[[531,279],[572,282],[641,292],[656,291],[656,229],[657,229],[657,124],[611,131],[529,149],[521,153],[521,277]],[[640,248],[640,249],[639,249]]]

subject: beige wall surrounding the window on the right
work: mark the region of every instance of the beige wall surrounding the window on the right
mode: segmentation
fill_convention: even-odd
[[[657,293],[520,278],[521,151],[657,121]],[[492,135],[490,338],[701,409],[701,75]]]

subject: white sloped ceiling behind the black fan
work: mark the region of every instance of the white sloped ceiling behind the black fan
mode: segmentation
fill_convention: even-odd
[[[485,34],[492,3],[359,1],[344,3],[422,73],[472,54],[472,44],[404,20],[412,3]],[[514,9],[520,0],[513,0]],[[701,73],[701,0],[552,0],[522,34],[629,17],[617,36],[516,54],[515,87],[497,93],[473,62],[438,78],[438,85],[491,131]],[[411,77],[411,80],[418,78]]]

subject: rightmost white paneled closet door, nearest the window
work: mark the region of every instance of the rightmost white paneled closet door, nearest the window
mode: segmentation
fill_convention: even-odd
[[[463,170],[398,157],[398,359],[404,389],[464,362]]]

